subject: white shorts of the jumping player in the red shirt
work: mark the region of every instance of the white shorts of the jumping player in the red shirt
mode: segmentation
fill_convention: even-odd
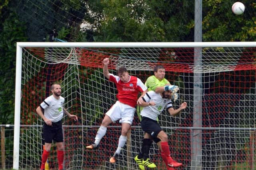
[[[134,113],[134,107],[116,101],[116,103],[107,111],[106,115],[108,115],[113,122],[120,119],[120,123],[129,123],[132,125]]]

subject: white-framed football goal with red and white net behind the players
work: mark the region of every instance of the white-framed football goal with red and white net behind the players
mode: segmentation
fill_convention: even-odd
[[[110,124],[98,150],[86,150],[116,101],[116,87],[102,72],[105,57],[110,57],[110,73],[125,66],[142,82],[162,64],[165,78],[180,87],[174,108],[182,102],[188,107],[175,117],[166,111],[158,117],[171,156],[183,164],[177,169],[256,167],[256,43],[18,43],[14,169],[40,167],[43,121],[35,110],[51,95],[50,85],[56,81],[62,86],[64,107],[79,119],[62,120],[64,168],[138,169],[134,157],[144,133],[137,114],[115,164],[109,158],[121,134],[118,122]],[[50,169],[58,168],[56,155],[53,145]],[[156,144],[150,158],[158,170],[165,169]]]

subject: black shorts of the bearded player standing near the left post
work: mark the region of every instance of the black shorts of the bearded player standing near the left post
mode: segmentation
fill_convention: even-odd
[[[52,143],[52,141],[63,142],[62,122],[52,122],[52,126],[44,123],[43,137],[45,143]]]

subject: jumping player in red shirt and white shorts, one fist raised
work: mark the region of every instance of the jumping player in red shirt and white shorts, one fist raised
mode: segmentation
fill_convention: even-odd
[[[103,74],[109,81],[116,84],[118,91],[116,97],[118,101],[116,101],[104,116],[100,128],[97,131],[94,143],[86,148],[97,149],[100,140],[106,134],[107,126],[120,119],[119,122],[122,123],[122,133],[118,140],[118,148],[109,160],[110,163],[115,163],[116,157],[120,154],[126,143],[128,131],[132,125],[138,93],[146,91],[147,88],[139,78],[130,76],[125,67],[120,67],[117,70],[118,76],[110,74],[108,71],[108,64],[109,58],[105,58],[103,60]]]

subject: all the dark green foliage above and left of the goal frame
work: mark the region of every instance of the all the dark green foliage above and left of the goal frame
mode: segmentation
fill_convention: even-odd
[[[0,4],[0,123],[13,121],[15,44],[27,41],[28,36],[29,41],[42,41],[55,28],[59,39],[77,42],[194,41],[191,0],[29,2],[4,0]],[[246,10],[240,16],[232,13],[233,3],[202,1],[203,41],[256,40],[256,3],[244,0]],[[89,15],[89,10],[95,15]],[[96,25],[96,29],[81,31],[83,20]]]

